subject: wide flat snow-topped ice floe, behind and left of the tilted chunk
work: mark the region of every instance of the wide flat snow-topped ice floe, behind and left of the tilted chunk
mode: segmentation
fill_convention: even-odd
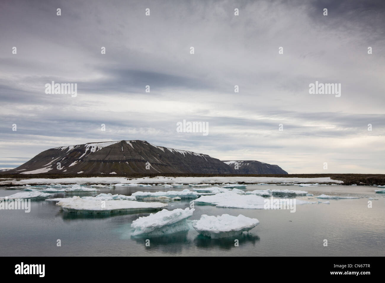
[[[82,199],[79,196],[67,198],[59,201],[63,211],[78,214],[110,214],[118,212],[149,211],[161,209],[167,204],[164,203],[144,203],[139,201],[127,200],[107,200],[102,203],[101,200]]]

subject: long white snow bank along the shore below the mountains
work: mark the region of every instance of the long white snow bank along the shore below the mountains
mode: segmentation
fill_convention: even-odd
[[[343,181],[332,180],[329,177],[322,178],[277,178],[277,177],[144,177],[144,178],[131,178],[130,180],[124,177],[78,177],[78,178],[57,178],[57,179],[3,179],[0,181],[0,186],[22,186],[22,185],[42,185],[42,184],[224,184],[224,183],[246,183],[246,184],[258,184],[258,183],[335,183],[343,184]]]

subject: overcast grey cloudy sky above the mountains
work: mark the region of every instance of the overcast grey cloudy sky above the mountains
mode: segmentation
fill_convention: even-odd
[[[384,174],[384,15],[382,0],[3,0],[0,167],[140,139],[289,173]],[[52,80],[77,96],[46,94]],[[315,81],[341,96],[309,94]],[[208,135],[177,132],[183,119]]]

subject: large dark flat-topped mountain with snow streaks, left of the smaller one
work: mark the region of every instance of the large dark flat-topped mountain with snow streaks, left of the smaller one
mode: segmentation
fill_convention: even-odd
[[[258,161],[253,161],[258,162]],[[259,162],[261,163],[261,162]],[[269,165],[276,166],[277,165]],[[62,146],[40,152],[7,174],[287,174],[280,172],[234,170],[207,154],[155,146],[147,141],[111,141]],[[255,167],[257,168],[257,167]]]

